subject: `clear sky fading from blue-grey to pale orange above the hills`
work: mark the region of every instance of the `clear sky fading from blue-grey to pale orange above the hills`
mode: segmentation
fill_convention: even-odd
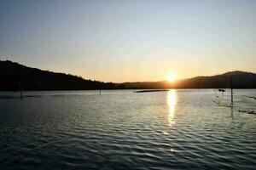
[[[256,1],[0,0],[0,59],[104,82],[256,72]]]

